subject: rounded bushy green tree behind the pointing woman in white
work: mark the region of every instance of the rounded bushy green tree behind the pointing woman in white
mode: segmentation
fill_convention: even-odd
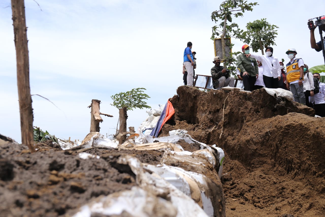
[[[247,44],[252,42],[251,48],[254,52],[261,50],[262,54],[264,55],[264,47],[276,45],[274,39],[278,35],[277,28],[279,27],[276,25],[271,25],[266,21],[265,18],[248,22],[246,28],[247,32],[245,32],[244,35],[248,35],[249,37],[247,37],[244,42]]]

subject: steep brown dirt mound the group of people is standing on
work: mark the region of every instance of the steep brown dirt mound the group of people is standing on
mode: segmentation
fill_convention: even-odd
[[[160,136],[185,129],[221,147],[227,216],[325,215],[325,118],[264,89],[200,91],[181,86]]]

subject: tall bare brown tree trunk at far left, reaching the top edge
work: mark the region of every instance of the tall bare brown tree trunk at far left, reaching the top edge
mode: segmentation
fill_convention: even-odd
[[[21,143],[35,151],[33,138],[33,108],[29,85],[29,57],[24,0],[11,0],[17,60],[17,86],[20,111]]]

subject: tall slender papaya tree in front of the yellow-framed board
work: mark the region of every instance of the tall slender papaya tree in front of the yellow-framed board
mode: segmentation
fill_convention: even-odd
[[[244,0],[227,0],[221,3],[219,10],[212,12],[211,19],[215,23],[220,22],[219,25],[215,25],[212,27],[212,36],[211,39],[214,40],[215,36],[220,36],[221,38],[221,46],[222,46],[222,56],[224,57],[224,66],[232,65],[236,62],[234,58],[240,52],[230,53],[230,56],[226,57],[226,43],[225,38],[234,37],[239,38],[244,41],[247,38],[244,31],[241,30],[237,23],[231,23],[232,17],[242,17],[245,11],[252,11],[253,6],[258,5],[257,2],[247,3]],[[231,23],[229,25],[229,23]],[[233,44],[228,45],[232,48]],[[236,68],[235,66],[228,67],[232,71]]]

